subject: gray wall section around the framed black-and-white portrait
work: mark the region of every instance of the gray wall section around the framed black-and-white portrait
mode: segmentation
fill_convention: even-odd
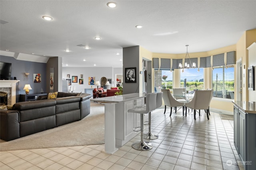
[[[139,46],[125,47],[123,48],[123,94],[138,93],[140,82],[140,70],[139,70],[140,48]],[[136,83],[126,83],[125,68],[136,67]]]

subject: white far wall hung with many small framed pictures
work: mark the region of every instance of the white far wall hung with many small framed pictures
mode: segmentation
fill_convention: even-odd
[[[88,84],[88,77],[95,77],[95,81],[100,81],[100,78],[106,77],[112,78],[114,80],[115,74],[122,74],[122,68],[112,68],[112,67],[62,67],[62,78],[66,80],[67,74],[70,74],[70,79],[72,76],[78,76],[80,79],[80,74],[83,74],[84,84],[72,83],[72,86],[76,86],[74,92],[84,93],[86,88],[91,88],[91,85]],[[110,84],[108,88],[114,86]],[[97,88],[93,85],[92,88]]]

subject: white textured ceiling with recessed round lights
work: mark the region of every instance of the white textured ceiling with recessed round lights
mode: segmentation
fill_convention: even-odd
[[[107,2],[0,0],[0,50],[62,57],[63,66],[122,67],[123,47],[178,54],[189,45],[189,53],[210,51],[256,29],[256,0],[114,0],[116,8]]]

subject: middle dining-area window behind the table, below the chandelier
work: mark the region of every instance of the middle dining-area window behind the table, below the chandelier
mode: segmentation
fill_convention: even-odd
[[[184,83],[186,82],[186,90],[192,91],[194,89],[204,89],[204,68],[189,68],[180,69],[180,87],[184,87]]]

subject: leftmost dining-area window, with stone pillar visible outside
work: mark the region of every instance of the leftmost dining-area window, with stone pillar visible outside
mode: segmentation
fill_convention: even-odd
[[[172,74],[170,70],[155,70],[154,91],[160,92],[162,88],[172,91]]]

